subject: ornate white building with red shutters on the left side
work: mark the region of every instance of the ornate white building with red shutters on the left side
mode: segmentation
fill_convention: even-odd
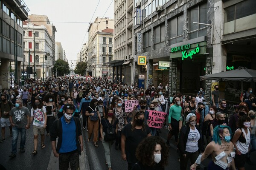
[[[38,78],[52,76],[55,61],[55,55],[52,55],[55,51],[52,49],[52,43],[55,42],[52,42],[47,28],[44,25],[38,26],[31,22],[23,22],[23,34],[23,55],[26,58],[24,67],[32,67]],[[27,71],[28,76],[34,77],[33,72]]]

